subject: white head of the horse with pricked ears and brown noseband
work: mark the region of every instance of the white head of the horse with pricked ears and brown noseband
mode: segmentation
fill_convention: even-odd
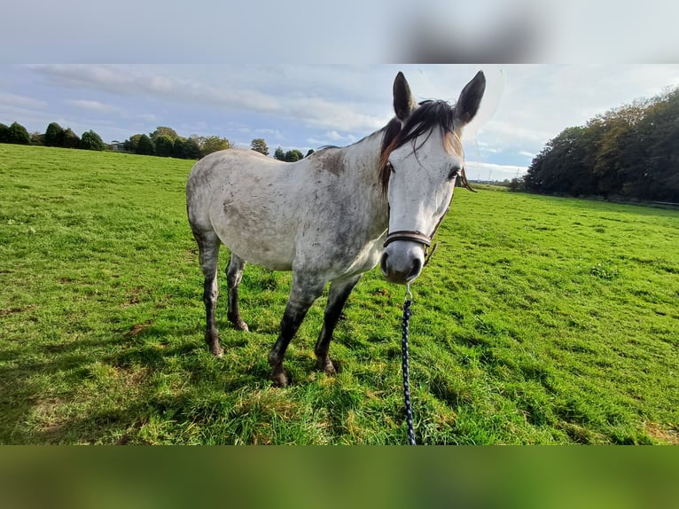
[[[379,268],[388,281],[406,284],[419,276],[425,247],[448,212],[464,176],[462,130],[479,110],[486,78],[467,83],[455,106],[418,103],[402,73],[394,80],[395,118],[382,140],[380,176],[389,202],[389,232]]]

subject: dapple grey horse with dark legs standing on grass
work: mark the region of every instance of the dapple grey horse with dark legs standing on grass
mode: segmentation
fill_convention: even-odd
[[[238,329],[247,330],[238,310],[246,262],[293,271],[280,333],[269,353],[277,386],[290,381],[283,368],[285,349],[331,282],[315,353],[318,369],[334,373],[328,356],[332,332],[363,272],[379,263],[387,281],[406,284],[417,278],[456,183],[471,189],[460,138],[485,88],[479,72],[454,106],[445,101],[418,104],[399,73],[394,118],[354,145],[326,147],[293,163],[234,149],[198,161],[186,184],[186,206],[205,276],[210,351],[223,353],[215,327],[223,244],[231,253],[228,318]]]

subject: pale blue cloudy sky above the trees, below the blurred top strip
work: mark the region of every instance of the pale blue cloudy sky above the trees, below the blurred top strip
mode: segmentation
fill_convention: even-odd
[[[44,132],[57,121],[106,142],[168,126],[271,153],[348,145],[393,116],[402,70],[418,99],[455,101],[482,68],[487,98],[464,137],[469,174],[523,172],[566,127],[679,85],[678,65],[0,65],[0,122]]]

